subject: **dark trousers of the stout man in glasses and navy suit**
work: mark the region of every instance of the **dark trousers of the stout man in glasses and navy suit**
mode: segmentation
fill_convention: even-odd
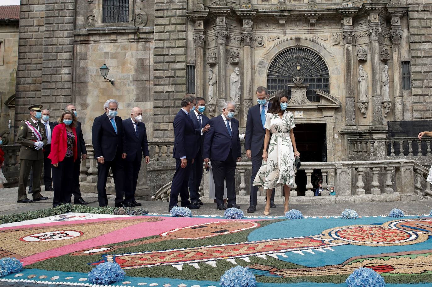
[[[235,205],[235,167],[237,161],[229,151],[225,161],[212,161],[213,180],[215,182],[215,197],[217,205],[223,204],[223,183],[226,183],[226,197],[228,205]]]

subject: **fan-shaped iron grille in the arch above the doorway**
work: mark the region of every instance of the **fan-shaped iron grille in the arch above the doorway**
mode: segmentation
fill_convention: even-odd
[[[299,70],[296,65],[300,65]],[[282,51],[270,63],[267,73],[269,93],[286,90],[288,97],[291,98],[291,87],[288,85],[297,77],[302,77],[303,83],[309,84],[306,89],[309,101],[320,101],[314,89],[327,93],[330,91],[330,74],[321,56],[308,48],[294,47]]]

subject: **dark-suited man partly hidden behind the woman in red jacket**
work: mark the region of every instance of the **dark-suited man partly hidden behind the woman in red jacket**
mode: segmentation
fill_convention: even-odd
[[[77,117],[78,111],[76,110],[76,107],[73,104],[68,104],[64,111],[69,110],[71,113],[73,113],[74,117]],[[73,180],[72,180],[72,194],[73,194],[73,203],[74,204],[81,204],[81,205],[87,205],[89,204],[83,199],[83,196],[81,195],[81,191],[79,190],[79,174],[80,174],[80,167],[81,167],[81,158],[83,161],[87,158],[87,150],[86,150],[86,142],[84,142],[84,136],[83,136],[83,129],[81,128],[81,122],[76,122],[76,137],[77,139],[77,151],[78,151],[78,157],[76,158],[76,161],[73,163]]]

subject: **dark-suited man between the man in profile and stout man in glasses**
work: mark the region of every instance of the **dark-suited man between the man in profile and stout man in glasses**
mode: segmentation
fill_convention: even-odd
[[[195,140],[197,141],[197,156],[191,167],[191,175],[189,176],[189,194],[191,202],[194,205],[203,205],[200,201],[200,183],[203,177],[203,144],[204,134],[210,129],[209,118],[204,116],[203,112],[206,109],[206,100],[201,97],[196,99],[197,105],[194,111],[189,113],[192,122],[195,126]]]

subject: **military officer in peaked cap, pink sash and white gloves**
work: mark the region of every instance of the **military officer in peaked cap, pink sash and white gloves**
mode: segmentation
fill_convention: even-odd
[[[35,104],[29,107],[30,119],[21,122],[16,134],[16,142],[21,145],[19,160],[18,201],[29,203],[32,201],[47,200],[48,197],[41,195],[41,174],[44,167],[44,145],[48,139],[45,127],[41,123],[42,105]],[[25,193],[27,179],[30,170],[33,168],[33,200],[28,199]]]

